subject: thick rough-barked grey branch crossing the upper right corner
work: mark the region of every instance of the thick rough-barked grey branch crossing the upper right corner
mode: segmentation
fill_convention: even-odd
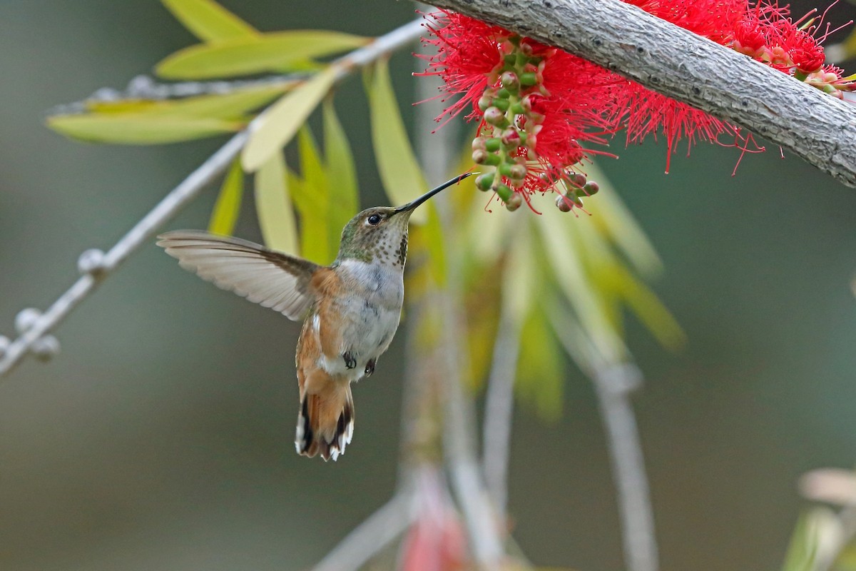
[[[856,187],[856,107],[620,0],[439,0],[780,145]]]

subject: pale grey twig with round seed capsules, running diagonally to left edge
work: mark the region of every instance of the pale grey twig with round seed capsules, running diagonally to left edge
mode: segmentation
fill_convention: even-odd
[[[391,51],[395,51],[403,45],[407,45],[419,38],[422,31],[423,19],[418,18],[404,26],[395,28],[392,32],[375,39],[371,44],[358,50],[352,51],[345,57],[341,57],[330,63],[336,67],[336,80],[342,80],[356,69],[374,62]],[[134,225],[127,235],[116,242],[110,251],[104,254],[99,264],[90,265],[84,276],[80,277],[74,285],[62,294],[51,307],[35,319],[27,330],[11,342],[3,351],[0,359],[0,377],[9,373],[46,333],[53,330],[62,319],[68,316],[80,301],[104,281],[116,270],[118,265],[134,253],[140,246],[146,243],[158,232],[164,223],[174,217],[181,208],[196,198],[202,189],[220,175],[229,163],[241,152],[241,148],[247,142],[247,130],[235,134],[217,152],[211,155],[205,163],[194,170],[184,181],[175,187],[166,197],[150,211],[146,217]]]

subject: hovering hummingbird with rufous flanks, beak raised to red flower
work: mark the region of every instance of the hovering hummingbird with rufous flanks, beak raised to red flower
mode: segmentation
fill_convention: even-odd
[[[158,246],[182,268],[289,319],[303,320],[294,360],[300,388],[298,454],[335,461],[351,442],[351,383],[372,375],[401,319],[410,215],[472,174],[456,176],[406,205],[361,211],[342,229],[339,253],[330,265],[201,230],[158,236]]]

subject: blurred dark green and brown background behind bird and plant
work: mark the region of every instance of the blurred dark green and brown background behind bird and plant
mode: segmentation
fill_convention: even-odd
[[[414,9],[223,4],[265,31],[366,35]],[[809,6],[796,4],[798,15]],[[0,334],[222,143],[80,145],[48,131],[45,111],[123,87],[193,41],[157,0],[0,2]],[[412,68],[407,54],[393,60],[402,102],[414,98]],[[337,104],[363,204],[384,203],[359,78]],[[803,506],[796,479],[856,461],[856,190],[774,147],[732,177],[734,149],[698,146],[663,175],[663,145],[621,146],[603,169],[662,254],[656,289],[689,337],[669,354],[628,325],[647,381],[634,402],[663,569],[776,569]],[[205,227],[214,196],[169,228]],[[237,233],[258,240],[252,202],[244,214]],[[27,360],[0,384],[0,568],[307,568],[393,491],[403,336],[355,390],[348,455],[324,464],[292,444],[298,325],[180,271],[153,243],[56,333],[56,360]],[[572,366],[565,392],[557,425],[515,416],[514,537],[539,565],[614,571],[621,540],[597,402]]]

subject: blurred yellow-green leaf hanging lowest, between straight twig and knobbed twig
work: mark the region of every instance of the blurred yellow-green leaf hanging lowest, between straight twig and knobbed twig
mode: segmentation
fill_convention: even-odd
[[[541,312],[530,312],[520,332],[517,394],[545,420],[562,415],[562,355]]]

